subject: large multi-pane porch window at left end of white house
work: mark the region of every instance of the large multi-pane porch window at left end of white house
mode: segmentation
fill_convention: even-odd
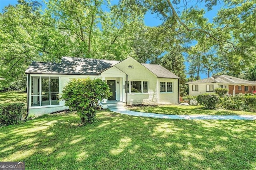
[[[59,105],[59,77],[31,77],[31,106]]]

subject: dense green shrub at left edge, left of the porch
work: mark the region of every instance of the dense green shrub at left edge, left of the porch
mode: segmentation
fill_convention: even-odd
[[[0,104],[0,125],[8,126],[20,123],[25,113],[24,103]]]

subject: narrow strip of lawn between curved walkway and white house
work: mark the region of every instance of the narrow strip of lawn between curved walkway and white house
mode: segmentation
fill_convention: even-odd
[[[224,109],[206,110],[202,106],[184,105],[158,105],[158,106],[132,106],[131,111],[159,113],[166,115],[256,115],[255,112],[230,111]]]

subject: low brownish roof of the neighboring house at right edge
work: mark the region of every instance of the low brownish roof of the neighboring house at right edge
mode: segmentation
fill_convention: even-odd
[[[230,75],[216,75],[217,78],[209,77],[206,79],[190,81],[186,84],[195,84],[195,83],[228,83],[228,84],[255,84],[254,81],[248,81],[240,78],[236,78]]]

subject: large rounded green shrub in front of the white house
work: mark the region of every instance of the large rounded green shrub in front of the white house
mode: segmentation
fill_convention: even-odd
[[[73,79],[63,89],[61,99],[77,111],[82,124],[93,123],[99,103],[111,96],[110,88],[101,79]]]

